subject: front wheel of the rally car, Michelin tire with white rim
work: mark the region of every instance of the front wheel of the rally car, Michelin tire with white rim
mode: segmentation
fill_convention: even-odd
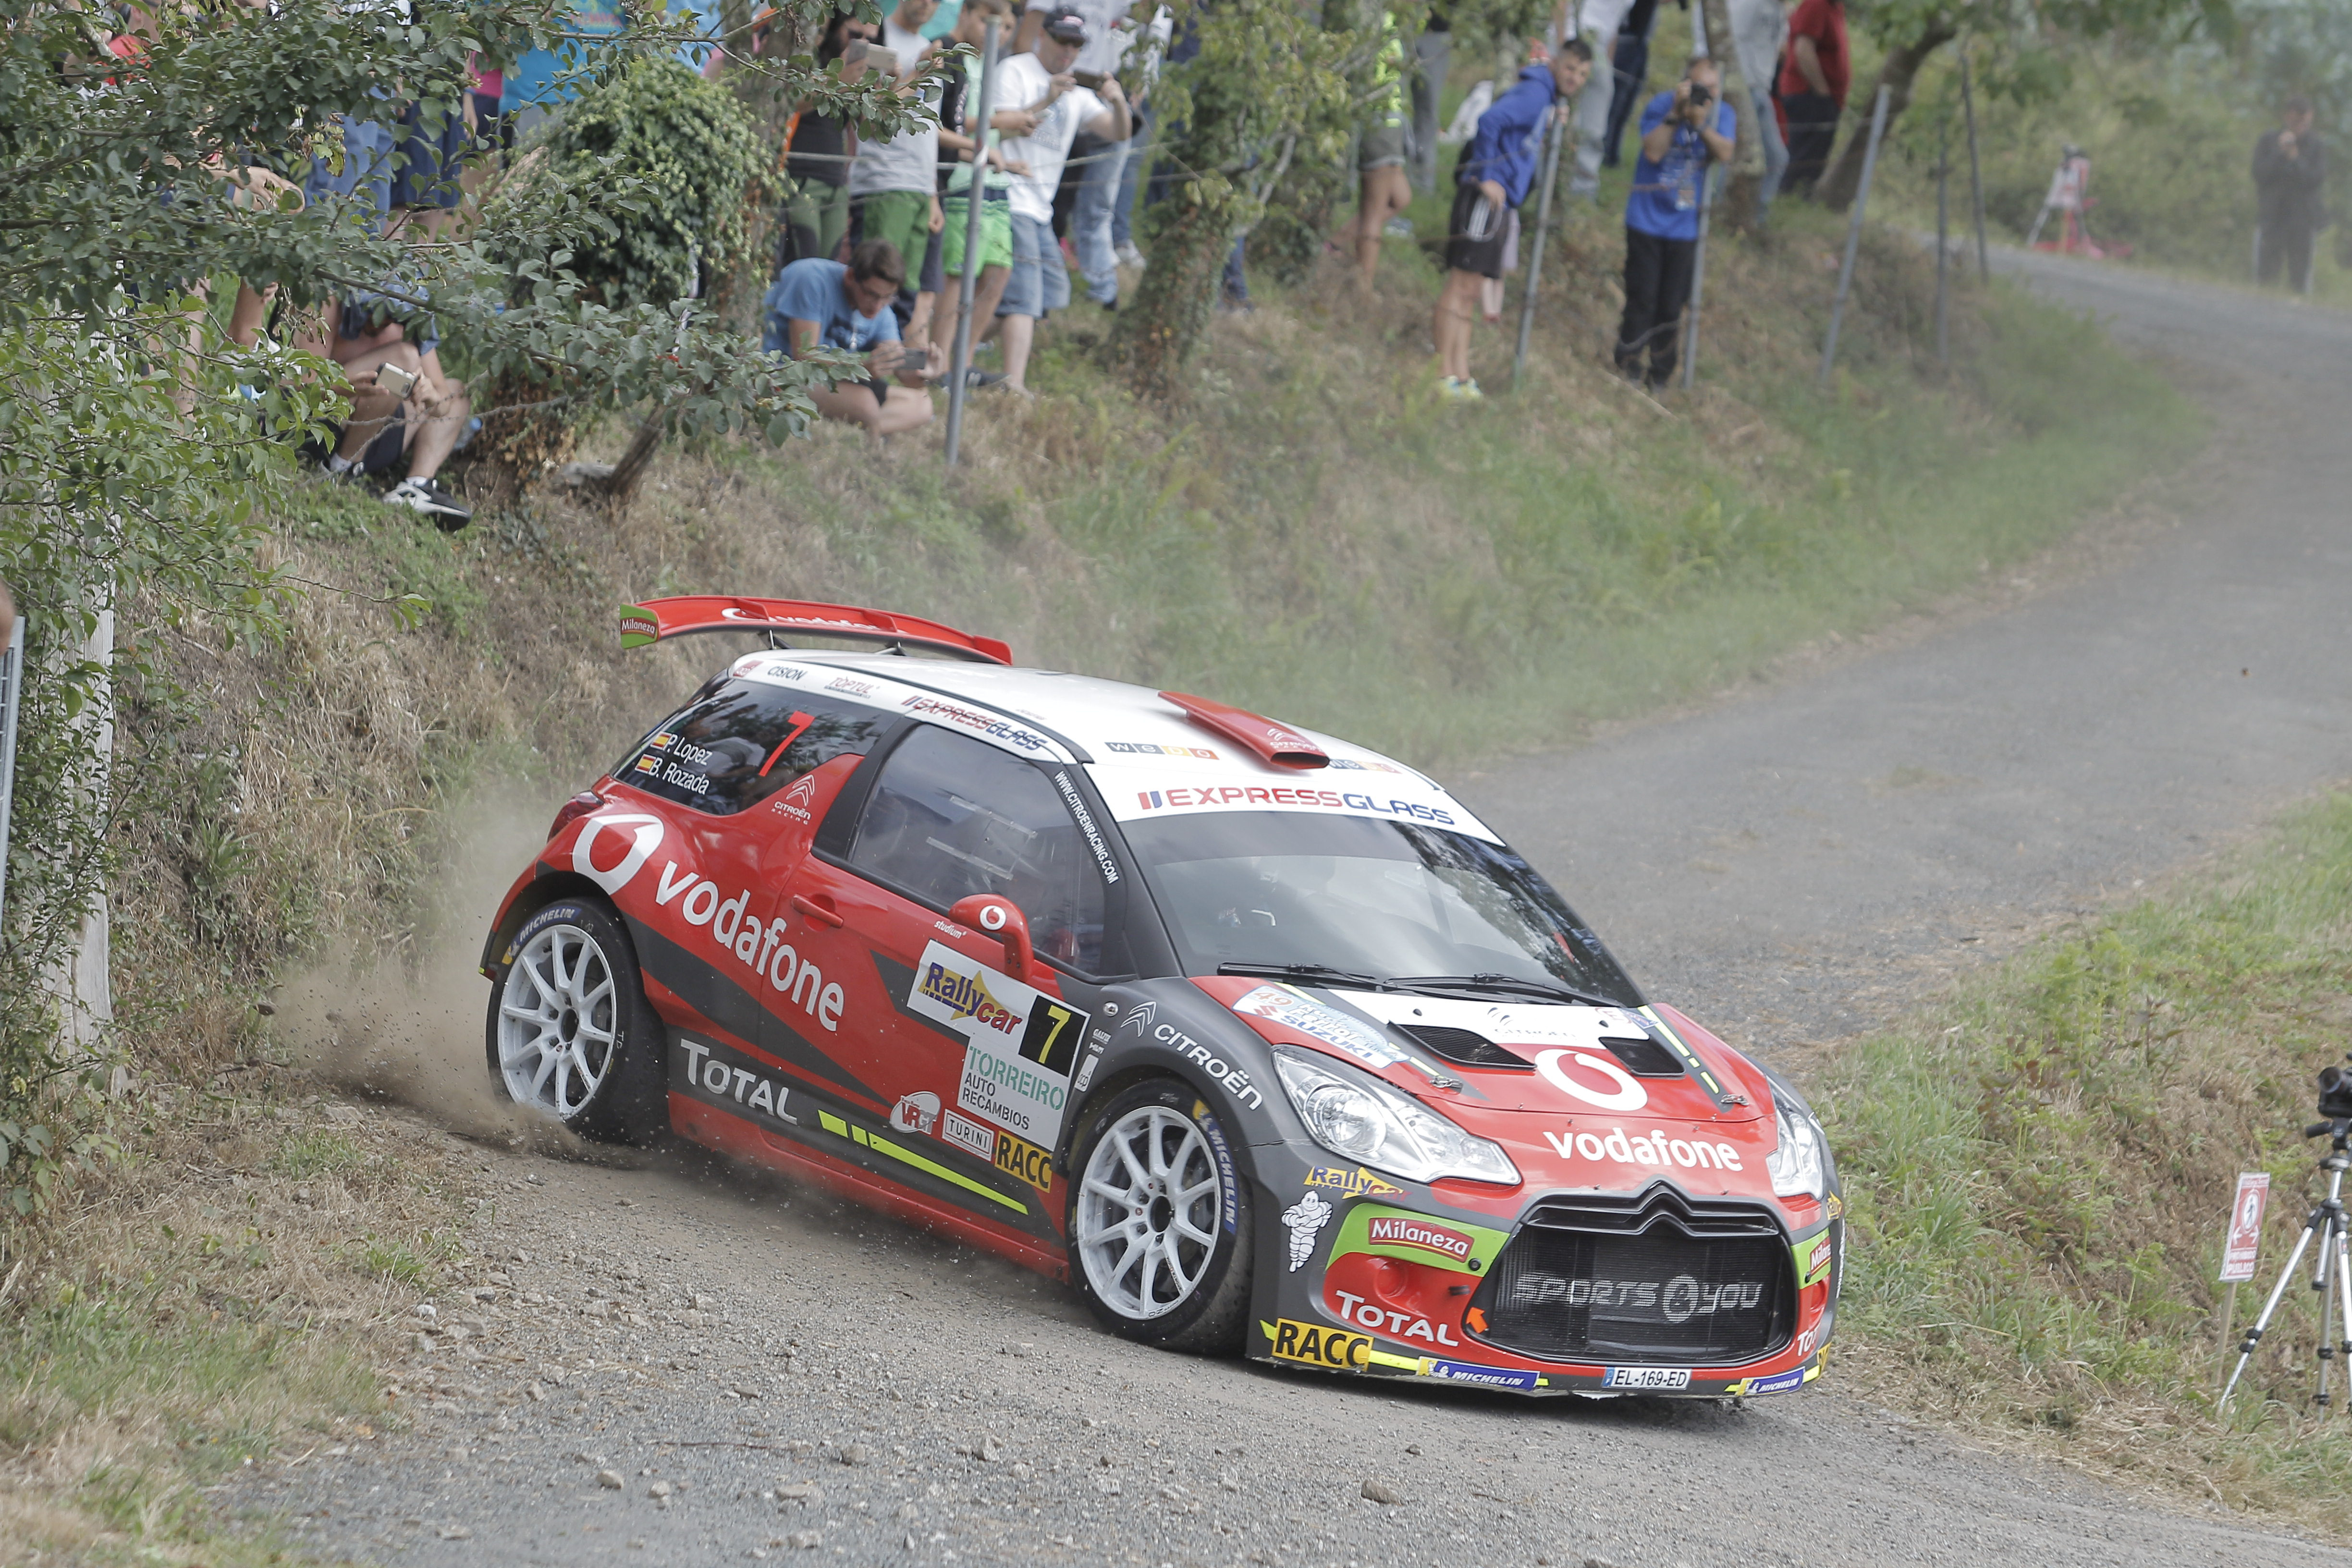
[[[1214,1131],[1204,1126],[1207,1117],[1207,1105],[1188,1084],[1145,1079],[1089,1105],[1070,1154],[1070,1279],[1105,1328],[1141,1345],[1235,1352],[1249,1328],[1249,1272],[1256,1258],[1249,1180],[1240,1171],[1232,1135],[1223,1124]],[[1117,1143],[1127,1145],[1136,1164],[1120,1159]],[[1098,1152],[1105,1157],[1101,1171]],[[1112,1201],[1094,1190],[1089,1178],[1105,1171],[1129,1187],[1127,1199]],[[1145,1175],[1141,1182],[1138,1171]],[[1200,1197],[1209,1175],[1216,1187]],[[1150,1190],[1155,1180],[1157,1192]],[[1195,1197],[1178,1208],[1169,1187]],[[1207,1234],[1209,1244],[1197,1241],[1197,1234]],[[1122,1248],[1117,1258],[1112,1246]],[[1183,1281],[1185,1274],[1190,1284],[1178,1291],[1171,1281]]]

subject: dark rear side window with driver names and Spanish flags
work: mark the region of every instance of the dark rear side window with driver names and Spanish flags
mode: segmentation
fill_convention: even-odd
[[[663,719],[614,778],[647,795],[734,816],[842,752],[863,757],[891,717],[767,682],[722,679]]]

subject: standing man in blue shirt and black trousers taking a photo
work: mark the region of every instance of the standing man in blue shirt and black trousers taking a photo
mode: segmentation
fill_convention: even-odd
[[[1625,317],[1616,367],[1628,381],[1639,378],[1646,350],[1653,393],[1675,376],[1710,165],[1731,162],[1738,115],[1722,101],[1719,82],[1715,61],[1700,54],[1642,110],[1642,160],[1625,197]]]

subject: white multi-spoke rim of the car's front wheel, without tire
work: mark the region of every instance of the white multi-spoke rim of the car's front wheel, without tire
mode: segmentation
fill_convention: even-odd
[[[1192,1300],[1216,1258],[1225,1185],[1178,1110],[1138,1105],[1094,1145],[1077,1192],[1077,1255],[1094,1295],[1141,1324]]]

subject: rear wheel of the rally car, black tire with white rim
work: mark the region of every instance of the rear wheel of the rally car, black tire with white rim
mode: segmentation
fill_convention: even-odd
[[[496,1091],[581,1138],[628,1145],[661,1138],[670,1126],[668,1034],[644,999],[637,950],[614,912],[588,898],[557,898],[522,922],[508,952],[482,1023]],[[503,1039],[501,1025],[508,1025]],[[576,1081],[588,1079],[579,1093]]]

